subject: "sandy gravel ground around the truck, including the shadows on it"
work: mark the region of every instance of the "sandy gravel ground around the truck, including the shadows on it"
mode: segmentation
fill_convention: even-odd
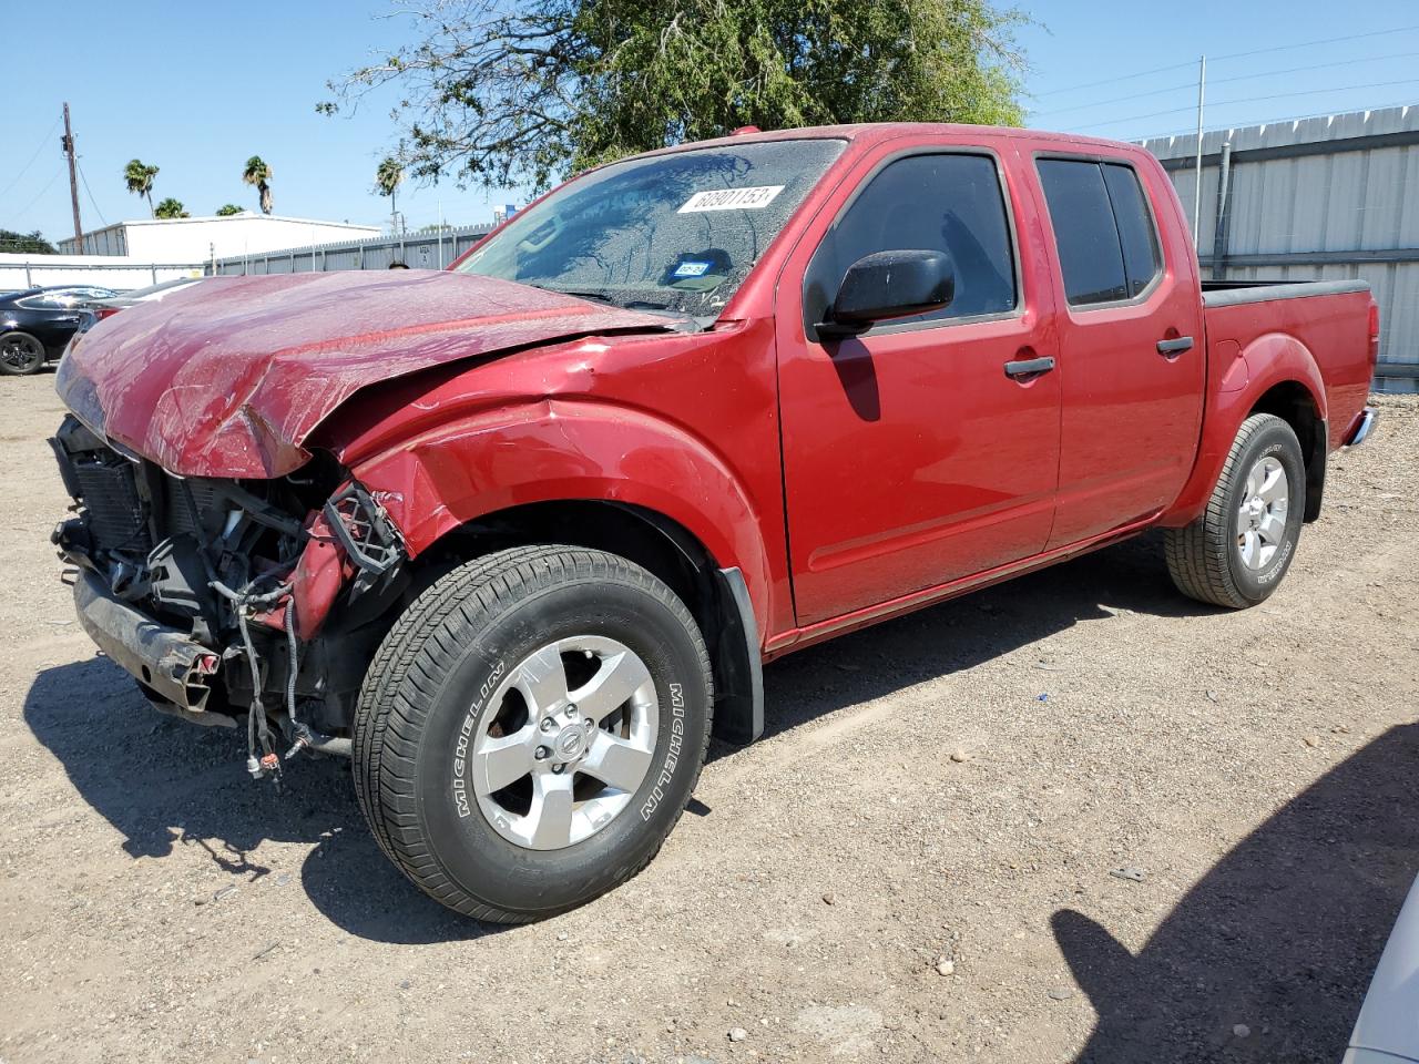
[[[1335,1061],[1419,870],[1419,403],[1284,587],[1154,538],[768,670],[660,857],[517,929],[284,797],[72,619],[53,377],[0,380],[0,1061]]]

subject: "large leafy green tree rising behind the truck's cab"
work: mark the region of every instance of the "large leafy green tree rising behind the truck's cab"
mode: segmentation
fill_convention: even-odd
[[[742,125],[1017,125],[1025,20],[993,0],[416,0],[382,87],[414,177],[532,184]]]

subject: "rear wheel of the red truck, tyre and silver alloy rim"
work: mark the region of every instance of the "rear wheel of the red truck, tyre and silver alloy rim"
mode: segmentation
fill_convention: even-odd
[[[1242,423],[1202,516],[1165,533],[1178,590],[1243,609],[1267,599],[1291,567],[1305,514],[1305,461],[1274,414]]]

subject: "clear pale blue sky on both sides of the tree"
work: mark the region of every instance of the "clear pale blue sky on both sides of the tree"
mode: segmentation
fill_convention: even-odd
[[[1208,128],[1419,104],[1413,0],[1019,6],[1037,23],[1020,43],[1032,67],[1030,125],[1042,128],[1120,139],[1186,131],[1202,54]],[[194,214],[227,201],[254,209],[240,173],[261,155],[274,170],[278,214],[387,217],[373,172],[396,139],[393,98],[370,99],[349,119],[322,118],[315,104],[329,96],[326,79],[407,35],[407,20],[382,17],[394,10],[390,0],[67,0],[62,10],[61,27],[51,4],[0,0],[11,43],[0,227],[71,233],[57,126],[65,99],[88,186],[79,189],[85,228],[146,214],[123,190],[133,156],[160,167],[156,199],[176,196]],[[515,199],[448,182],[406,186],[399,197],[410,228],[436,221],[440,203],[450,221],[474,223]]]

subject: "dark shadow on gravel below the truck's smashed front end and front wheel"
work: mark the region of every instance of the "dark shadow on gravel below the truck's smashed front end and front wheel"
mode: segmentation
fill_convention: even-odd
[[[245,732],[194,728],[158,714],[104,658],[40,672],[24,719],[135,858],[192,847],[227,872],[228,882],[274,877],[280,890],[299,890],[284,885],[287,877],[297,878],[295,868],[264,864],[254,851],[264,841],[307,844],[314,850],[299,867],[299,885],[352,935],[414,945],[499,931],[424,897],[385,858],[343,760],[302,759],[287,770],[277,794],[247,775]],[[223,887],[211,875],[194,880],[194,898]]]

